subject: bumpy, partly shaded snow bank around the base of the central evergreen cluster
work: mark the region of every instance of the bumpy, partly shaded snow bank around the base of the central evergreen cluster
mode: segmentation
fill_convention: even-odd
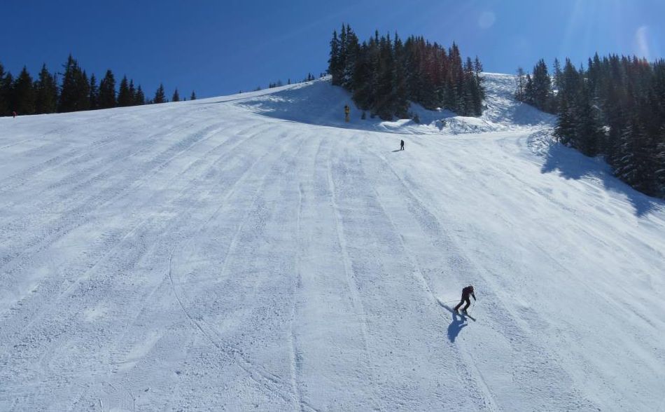
[[[381,121],[370,118],[357,109],[351,95],[343,88],[332,86],[330,77],[297,85],[276,88],[237,100],[237,104],[258,114],[283,120],[324,125],[335,128],[376,130],[426,135],[459,135],[464,133],[523,130],[551,124],[554,116],[517,102],[514,93],[514,76],[484,74],[487,88],[486,107],[482,116],[465,117],[447,110],[432,111],[419,104],[411,104],[410,111],[417,114],[420,123],[410,120]],[[344,122],[344,106],[349,105],[351,121]]]

